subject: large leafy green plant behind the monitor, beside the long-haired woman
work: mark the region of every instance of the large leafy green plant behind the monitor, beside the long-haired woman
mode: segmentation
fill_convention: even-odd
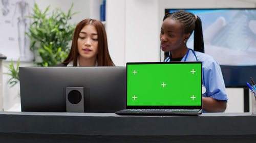
[[[34,14],[28,16],[34,22],[26,34],[32,40],[30,49],[38,51],[41,57],[42,61],[36,62],[39,66],[54,66],[67,58],[75,28],[75,24],[69,24],[69,20],[78,13],[71,13],[73,3],[67,14],[55,8],[49,15],[49,8],[42,12],[35,4]]]

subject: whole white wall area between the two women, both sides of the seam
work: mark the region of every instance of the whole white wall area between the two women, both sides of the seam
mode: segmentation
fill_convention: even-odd
[[[107,1],[106,32],[116,66],[158,61],[158,1]]]

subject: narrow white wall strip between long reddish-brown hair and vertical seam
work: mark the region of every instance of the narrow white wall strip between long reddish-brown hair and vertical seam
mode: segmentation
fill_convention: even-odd
[[[106,35],[109,52],[116,66],[125,64],[125,0],[106,2]]]

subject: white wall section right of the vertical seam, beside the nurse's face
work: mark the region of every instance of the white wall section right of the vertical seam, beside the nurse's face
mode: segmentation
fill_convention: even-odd
[[[158,62],[158,1],[126,1],[125,62]]]

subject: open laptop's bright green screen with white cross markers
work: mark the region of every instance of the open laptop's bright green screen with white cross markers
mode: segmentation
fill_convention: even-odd
[[[127,63],[127,106],[201,106],[201,63]]]

